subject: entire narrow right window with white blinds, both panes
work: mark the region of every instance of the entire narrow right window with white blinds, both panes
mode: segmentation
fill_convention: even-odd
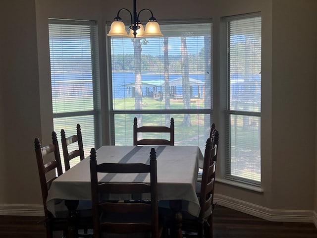
[[[227,110],[225,178],[261,183],[261,16],[225,18]]]

